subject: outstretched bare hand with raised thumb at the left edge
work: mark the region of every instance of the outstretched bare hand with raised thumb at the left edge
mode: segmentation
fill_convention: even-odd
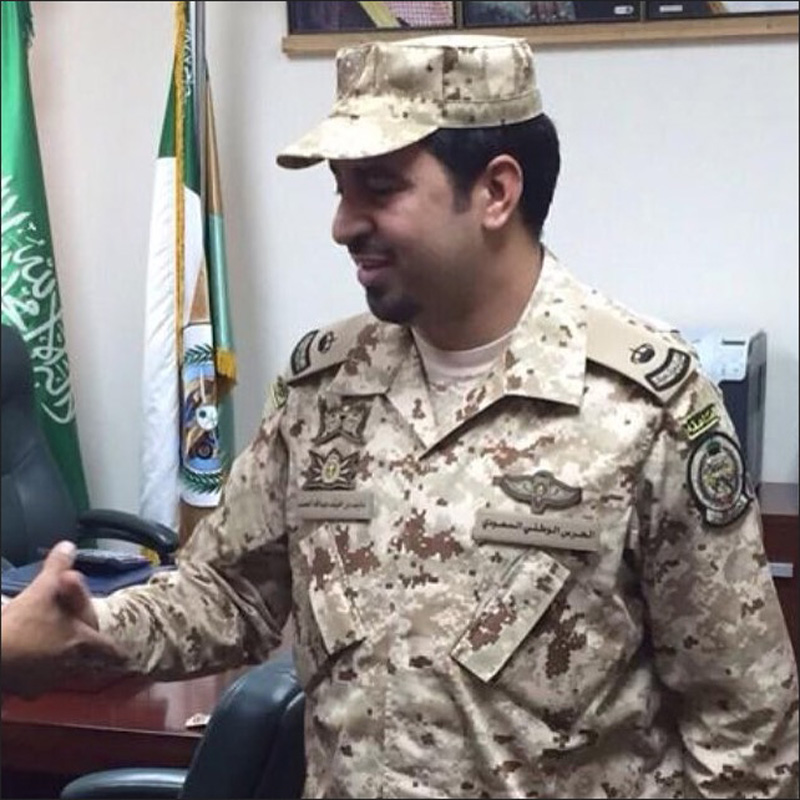
[[[31,584],[3,606],[3,692],[31,697],[70,677],[124,663],[113,642],[98,633],[74,558],[75,545],[59,542]]]

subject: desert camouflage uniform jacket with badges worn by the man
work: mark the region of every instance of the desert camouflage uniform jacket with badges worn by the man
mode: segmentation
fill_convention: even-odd
[[[463,397],[368,315],[299,355],[178,570],[98,601],[131,669],[265,659],[291,615],[309,797],[797,796],[757,503],[704,522],[685,422],[735,434],[679,338],[548,254]]]

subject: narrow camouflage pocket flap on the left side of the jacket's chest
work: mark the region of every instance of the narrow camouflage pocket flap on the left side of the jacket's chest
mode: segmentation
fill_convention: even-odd
[[[308,599],[325,649],[332,656],[366,637],[358,612],[347,596],[344,565],[327,525],[298,542],[310,574]]]

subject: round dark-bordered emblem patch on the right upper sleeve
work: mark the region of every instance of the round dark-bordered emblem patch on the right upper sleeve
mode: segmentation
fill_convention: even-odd
[[[687,473],[692,496],[708,525],[730,525],[753,500],[747,490],[741,450],[725,433],[712,433],[697,442]]]

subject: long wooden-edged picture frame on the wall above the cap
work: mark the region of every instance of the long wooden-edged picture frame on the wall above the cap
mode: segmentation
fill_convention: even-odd
[[[390,5],[391,3],[391,5]],[[332,56],[346,45],[354,45],[379,39],[390,41],[425,32],[457,32],[496,36],[521,36],[530,44],[542,49],[546,47],[573,47],[583,45],[616,45],[639,42],[680,42],[703,40],[726,40],[760,37],[794,38],[798,36],[800,3],[760,2],[760,0],[730,0],[730,2],[656,2],[656,0],[631,0],[630,2],[601,2],[601,0],[574,0],[573,3],[481,3],[484,11],[494,7],[540,6],[541,13],[517,15],[516,18],[492,20],[487,13],[478,13],[479,0],[453,0],[444,3],[448,9],[441,14],[442,3],[423,0],[408,0],[406,3],[361,2],[360,0],[289,0],[286,3],[287,35],[283,37],[282,49],[289,57]],[[310,14],[313,7],[318,12],[332,14],[334,6],[359,6],[372,14],[348,22],[344,18],[320,18]],[[437,8],[422,11],[412,23],[385,14],[386,9],[400,6],[420,11],[423,7]],[[562,13],[548,14],[544,8],[560,7]],[[564,11],[573,7],[574,18]],[[633,7],[621,12],[622,6]],[[667,7],[671,6],[671,9]],[[427,13],[427,16],[425,15]],[[305,15],[305,16],[304,16]],[[536,18],[534,19],[534,16]]]

